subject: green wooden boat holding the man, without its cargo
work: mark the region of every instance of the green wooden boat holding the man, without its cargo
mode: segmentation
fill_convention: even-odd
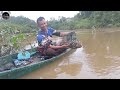
[[[45,66],[55,60],[57,60],[58,58],[60,58],[61,56],[63,56],[64,54],[68,53],[71,49],[67,49],[66,51],[64,51],[63,53],[61,53],[58,56],[54,56],[50,59],[46,59],[46,60],[41,60],[41,58],[37,58],[37,62],[33,62],[30,63],[28,65],[25,66],[21,66],[21,67],[16,67],[10,70],[5,70],[0,72],[0,79],[16,79],[19,78],[27,73],[32,72],[33,70],[36,70],[38,68],[41,68],[42,66]],[[36,56],[37,52],[34,52],[32,54],[32,56]],[[17,58],[17,54],[13,54],[13,55],[8,55],[5,57],[0,57],[0,66],[3,66],[7,63],[10,62],[14,62],[14,60]]]

